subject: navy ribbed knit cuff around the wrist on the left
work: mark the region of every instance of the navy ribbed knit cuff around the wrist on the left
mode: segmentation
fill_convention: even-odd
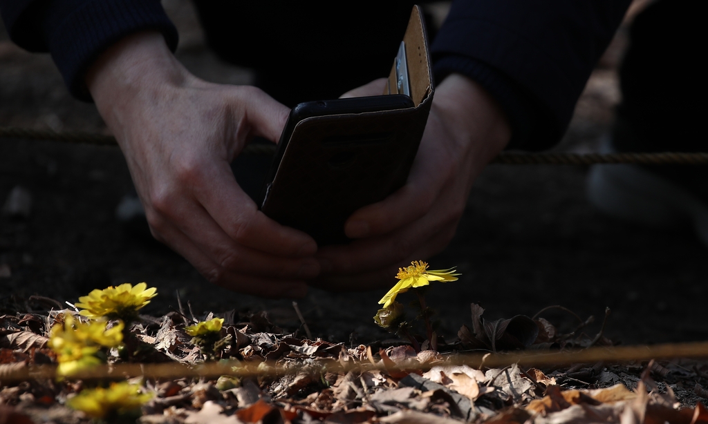
[[[55,1],[55,4],[61,4]],[[52,8],[60,10],[52,10]],[[98,56],[118,40],[142,30],[161,32],[169,48],[177,48],[177,29],[157,0],[90,0],[70,13],[66,4],[47,13],[49,47],[72,95],[91,101],[84,76]]]

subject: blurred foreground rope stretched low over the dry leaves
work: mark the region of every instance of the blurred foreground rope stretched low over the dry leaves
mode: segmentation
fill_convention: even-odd
[[[219,377],[233,375],[235,377],[282,377],[283,375],[311,374],[324,372],[348,372],[382,370],[428,370],[434,365],[469,365],[474,368],[500,368],[513,364],[523,367],[562,366],[595,363],[631,363],[649,360],[668,360],[672,358],[708,358],[708,342],[668,343],[653,346],[615,346],[594,347],[582,351],[547,352],[520,351],[512,353],[458,353],[443,357],[442,361],[434,363],[419,363],[409,361],[405,365],[387,366],[382,361],[378,363],[340,363],[334,358],[322,358],[320,363],[232,363],[216,362],[186,365],[181,363],[122,363],[113,365],[96,365],[81,370],[69,379],[107,379],[127,377],[148,378],[183,378],[183,377]],[[352,361],[353,362],[353,361]],[[2,384],[25,381],[30,378],[55,378],[56,365],[40,365],[36,367],[17,367],[0,375]]]

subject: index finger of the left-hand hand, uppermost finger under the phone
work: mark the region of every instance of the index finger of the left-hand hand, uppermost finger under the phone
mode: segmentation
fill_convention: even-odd
[[[200,167],[194,173],[193,178],[202,181],[200,189],[193,190],[197,200],[236,244],[280,257],[307,257],[317,251],[312,237],[258,211],[227,163]]]

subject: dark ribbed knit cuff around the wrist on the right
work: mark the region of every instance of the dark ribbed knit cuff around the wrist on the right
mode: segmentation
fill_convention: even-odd
[[[438,59],[433,66],[433,73],[438,83],[450,73],[461,73],[479,83],[506,112],[512,127],[507,148],[524,148],[535,120],[534,112],[530,101],[510,78],[482,61],[452,54]]]

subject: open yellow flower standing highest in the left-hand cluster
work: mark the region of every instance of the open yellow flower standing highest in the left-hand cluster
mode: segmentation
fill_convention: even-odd
[[[76,307],[84,310],[79,314],[89,318],[108,319],[120,318],[125,322],[131,322],[137,318],[137,310],[144,307],[154,298],[157,293],[156,288],[147,288],[147,284],[138,283],[133,287],[130,283],[112,285],[103,290],[93,290],[88,296],[79,298]]]

